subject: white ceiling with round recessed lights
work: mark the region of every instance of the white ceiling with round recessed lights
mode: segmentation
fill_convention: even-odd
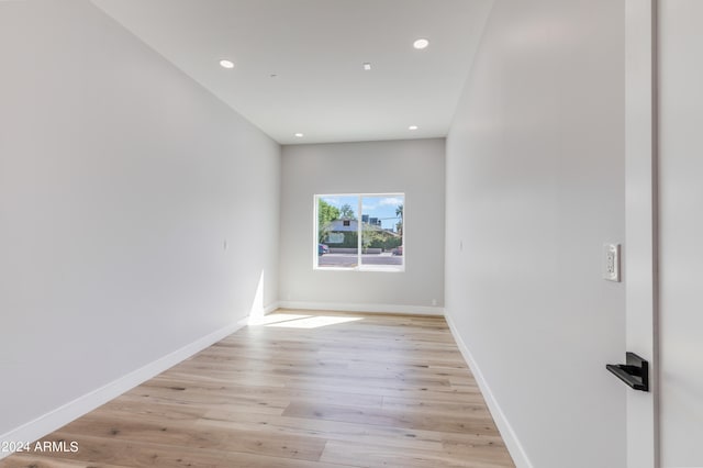
[[[445,136],[492,3],[92,2],[280,144]]]

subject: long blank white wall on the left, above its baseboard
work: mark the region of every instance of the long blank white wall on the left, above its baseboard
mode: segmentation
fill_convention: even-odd
[[[232,330],[261,274],[276,301],[280,147],[87,1],[0,2],[0,436],[16,436]]]

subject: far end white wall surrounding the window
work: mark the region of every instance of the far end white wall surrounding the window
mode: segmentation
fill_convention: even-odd
[[[283,146],[281,304],[440,313],[444,143],[439,138]],[[364,192],[405,193],[405,271],[313,270],[314,196]]]

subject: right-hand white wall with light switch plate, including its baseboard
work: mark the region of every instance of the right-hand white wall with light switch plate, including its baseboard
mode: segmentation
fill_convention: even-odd
[[[625,466],[623,83],[624,1],[496,1],[447,138],[447,315],[520,467]]]

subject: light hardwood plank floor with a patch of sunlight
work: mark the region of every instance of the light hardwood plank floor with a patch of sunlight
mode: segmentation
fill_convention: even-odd
[[[514,467],[444,319],[279,311],[18,467]],[[70,447],[68,445],[68,447]]]

